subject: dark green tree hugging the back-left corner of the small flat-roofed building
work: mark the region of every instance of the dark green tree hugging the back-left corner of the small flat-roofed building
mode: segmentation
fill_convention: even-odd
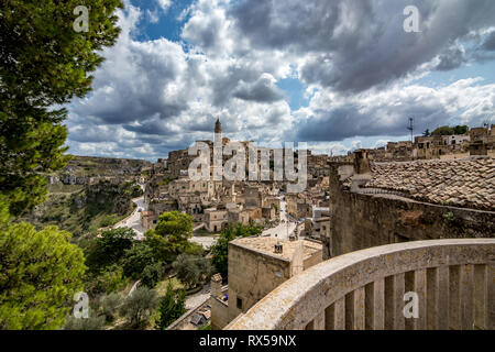
[[[262,231],[263,227],[254,226],[252,223],[249,226],[235,223],[230,224],[227,229],[224,229],[220,233],[217,244],[211,248],[212,264],[215,265],[215,270],[226,277],[229,264],[229,242],[235,240],[237,238],[258,235]]]

